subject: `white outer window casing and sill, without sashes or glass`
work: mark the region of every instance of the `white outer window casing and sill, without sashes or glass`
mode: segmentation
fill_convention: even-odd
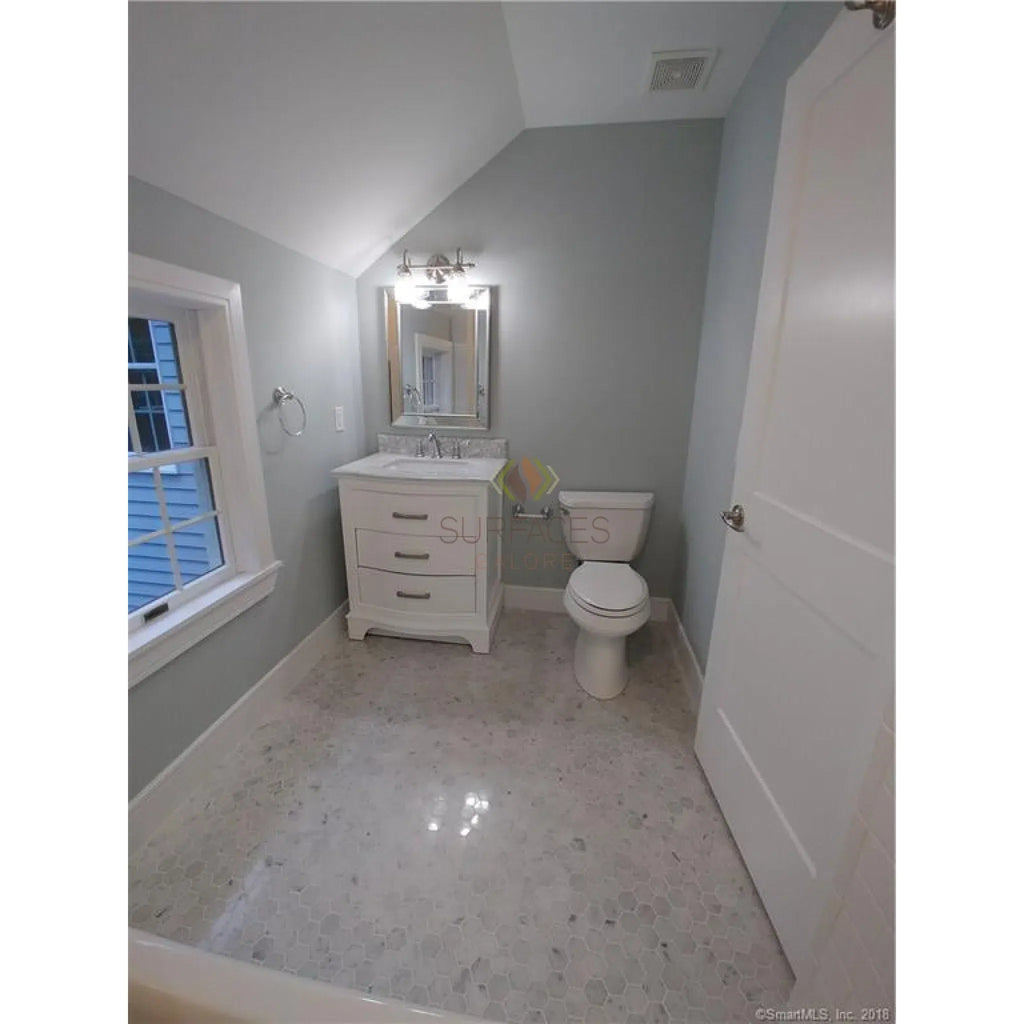
[[[220,453],[218,507],[230,524],[237,574],[128,640],[128,687],[251,608],[273,590],[274,558],[253,404],[242,289],[230,281],[128,254],[128,287],[154,300],[196,310],[207,402],[206,421]]]

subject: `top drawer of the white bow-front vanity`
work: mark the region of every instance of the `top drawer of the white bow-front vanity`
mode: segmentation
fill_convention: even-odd
[[[341,516],[355,529],[417,537],[465,535],[472,541],[478,528],[484,528],[477,523],[476,502],[468,495],[350,490],[342,498]],[[459,543],[462,544],[461,537]]]

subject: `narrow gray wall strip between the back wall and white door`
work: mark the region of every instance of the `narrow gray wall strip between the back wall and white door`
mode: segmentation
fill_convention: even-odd
[[[719,512],[732,504],[785,86],[837,10],[836,3],[787,4],[725,121],[683,487],[684,550],[673,592],[701,669],[725,546]]]

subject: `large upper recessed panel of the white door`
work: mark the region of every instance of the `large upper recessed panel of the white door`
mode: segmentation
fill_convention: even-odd
[[[759,489],[893,547],[891,39],[824,90],[806,135]],[[841,251],[838,251],[841,250]]]

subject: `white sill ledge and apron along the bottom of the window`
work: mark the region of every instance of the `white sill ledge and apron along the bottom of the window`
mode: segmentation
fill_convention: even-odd
[[[128,688],[267,597],[278,582],[281,565],[275,561],[256,572],[241,572],[130,634]]]

